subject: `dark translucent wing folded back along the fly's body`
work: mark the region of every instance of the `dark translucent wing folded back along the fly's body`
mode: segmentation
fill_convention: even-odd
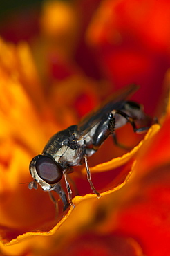
[[[110,113],[113,109],[121,110],[124,107],[124,100],[129,99],[137,90],[138,86],[135,84],[126,86],[124,89],[114,93],[95,111],[88,113],[78,124],[80,138],[85,136],[107,113]]]

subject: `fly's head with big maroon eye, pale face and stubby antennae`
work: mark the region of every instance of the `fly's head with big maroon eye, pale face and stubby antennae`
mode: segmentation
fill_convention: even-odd
[[[34,179],[28,188],[37,189],[37,183],[45,191],[54,190],[57,183],[62,179],[62,167],[54,158],[45,155],[35,156],[30,161],[30,174]]]

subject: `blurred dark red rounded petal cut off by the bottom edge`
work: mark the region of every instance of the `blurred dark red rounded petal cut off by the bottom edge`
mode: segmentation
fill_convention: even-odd
[[[126,256],[142,256],[142,248],[135,239],[130,237],[121,237],[120,235],[100,235],[95,232],[86,233],[70,241],[65,248],[62,249],[63,256],[75,255],[126,255]]]

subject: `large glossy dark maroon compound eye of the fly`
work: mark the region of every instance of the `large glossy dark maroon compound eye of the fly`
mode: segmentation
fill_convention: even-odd
[[[39,156],[35,168],[39,177],[48,184],[55,184],[62,179],[62,167],[48,156]]]

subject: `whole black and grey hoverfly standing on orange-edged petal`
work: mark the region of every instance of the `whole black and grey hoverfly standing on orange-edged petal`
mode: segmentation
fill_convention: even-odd
[[[102,107],[88,114],[78,125],[71,125],[53,135],[42,154],[35,156],[30,162],[30,174],[34,180],[29,183],[29,188],[36,189],[38,183],[44,191],[57,192],[62,199],[63,210],[66,210],[69,205],[73,205],[68,174],[73,171],[74,166],[85,163],[91,189],[97,197],[100,197],[91,180],[88,157],[93,155],[110,135],[117,143],[115,131],[127,122],[138,134],[149,129],[149,127],[136,126],[135,121],[146,120],[147,115],[140,104],[127,100],[136,89],[138,86],[135,84],[126,87],[124,91],[108,99]],[[63,177],[68,197],[60,183]],[[51,198],[56,203],[52,195]]]

